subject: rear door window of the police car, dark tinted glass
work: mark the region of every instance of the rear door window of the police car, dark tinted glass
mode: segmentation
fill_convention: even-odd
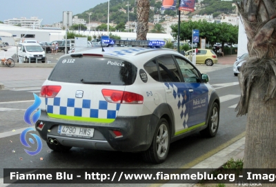
[[[179,72],[171,55],[157,58],[161,82],[180,82]]]

